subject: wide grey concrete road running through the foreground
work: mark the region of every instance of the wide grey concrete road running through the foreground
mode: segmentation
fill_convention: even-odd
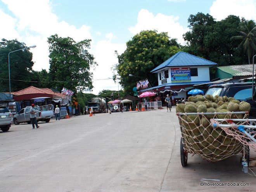
[[[240,156],[180,164],[180,128],[166,110],[77,116],[0,132],[0,192],[254,191]],[[255,153],[254,153],[255,155]],[[254,169],[256,172],[256,169]],[[200,187],[201,178],[250,187]]]

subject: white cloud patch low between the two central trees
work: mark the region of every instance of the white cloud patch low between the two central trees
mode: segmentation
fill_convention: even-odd
[[[112,34],[112,33],[111,33]],[[113,34],[111,36],[114,36]],[[126,49],[125,43],[112,43],[111,40],[102,40],[97,42],[97,44],[92,49],[92,54],[98,63],[98,66],[93,72],[93,79],[105,79],[112,78],[111,67],[118,63],[118,59],[114,54],[117,50],[118,53],[123,53]],[[93,81],[93,93],[98,94],[103,89],[118,90],[118,84],[114,83],[112,79]],[[119,85],[119,90],[121,89]]]

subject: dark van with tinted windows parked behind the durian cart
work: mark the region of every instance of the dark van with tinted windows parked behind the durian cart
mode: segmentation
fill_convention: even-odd
[[[246,101],[251,104],[249,118],[256,118],[256,101],[255,98],[253,98],[252,83],[224,83],[211,85],[205,94],[213,95],[213,97],[215,95],[222,97],[226,95],[227,97],[234,97],[240,101]]]

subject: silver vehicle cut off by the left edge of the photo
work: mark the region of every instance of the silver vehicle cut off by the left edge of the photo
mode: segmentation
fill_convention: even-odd
[[[6,106],[0,106],[0,129],[5,132],[9,131],[12,123],[12,113]]]

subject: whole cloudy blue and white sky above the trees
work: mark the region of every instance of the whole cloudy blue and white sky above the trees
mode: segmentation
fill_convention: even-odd
[[[168,32],[184,44],[187,19],[197,12],[217,21],[230,14],[256,20],[256,0],[0,0],[0,39],[17,39],[33,52],[34,70],[49,69],[47,37],[57,33],[76,41],[92,39],[90,52],[98,66],[93,91],[118,90],[111,67],[126,42],[144,29]],[[119,86],[120,88],[120,86]]]

